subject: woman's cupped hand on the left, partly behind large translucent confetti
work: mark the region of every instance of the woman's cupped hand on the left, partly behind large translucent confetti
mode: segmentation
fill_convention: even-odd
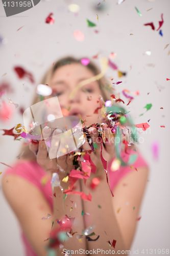
[[[40,140],[39,143],[30,143],[29,148],[35,154],[37,158],[37,163],[41,165],[46,171],[56,172],[57,164],[64,169],[66,172],[71,169],[75,169],[75,165],[72,164],[72,160],[74,157],[68,155],[63,155],[57,158],[57,152],[60,146],[60,135],[61,130],[55,130],[53,133],[51,147],[49,148],[49,154],[52,159],[50,159],[47,151],[47,147],[44,140]],[[51,135],[51,129],[48,127],[44,127],[42,130],[43,138],[46,139]]]

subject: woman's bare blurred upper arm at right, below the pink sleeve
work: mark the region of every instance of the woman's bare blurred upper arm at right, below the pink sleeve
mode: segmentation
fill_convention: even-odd
[[[115,216],[129,250],[132,244],[142,198],[147,185],[148,167],[138,167],[123,177],[113,190],[112,205]],[[141,219],[142,221],[142,219]]]

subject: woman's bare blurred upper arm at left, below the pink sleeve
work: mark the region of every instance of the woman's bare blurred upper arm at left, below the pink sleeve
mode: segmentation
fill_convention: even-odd
[[[2,178],[2,189],[35,253],[46,256],[48,241],[44,240],[50,237],[54,218],[42,192],[25,178],[12,174]],[[42,220],[47,214],[52,217]]]

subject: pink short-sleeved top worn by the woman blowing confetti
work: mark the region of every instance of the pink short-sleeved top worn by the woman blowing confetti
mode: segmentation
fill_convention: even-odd
[[[127,161],[127,158],[129,157],[128,154],[123,153],[122,157],[125,161]],[[114,160],[114,159],[113,159]],[[112,160],[112,161],[113,161]],[[129,166],[120,166],[119,170],[116,170],[115,172],[112,172],[110,169],[111,163],[108,165],[108,173],[109,173],[109,183],[110,187],[113,191],[114,187],[118,183],[120,179],[122,179],[126,174],[131,172],[135,167],[141,167],[141,166],[148,166],[147,163],[143,160],[143,158],[138,154],[138,158],[134,164],[131,166],[134,166],[133,169],[129,168]],[[52,193],[52,186],[50,179],[47,181],[45,185],[41,184],[41,179],[43,176],[46,176],[45,170],[37,163],[37,162],[18,162],[12,166],[12,168],[7,168],[4,175],[7,174],[15,174],[19,175],[25,179],[27,179],[29,182],[33,183],[36,187],[38,187],[44,197],[46,198],[47,202],[50,204],[52,210],[53,210],[53,193]],[[33,248],[29,244],[27,238],[25,237],[25,234],[23,231],[21,231],[21,238],[23,241],[23,244],[25,245],[26,250],[26,256],[37,256],[37,254],[34,252]]]

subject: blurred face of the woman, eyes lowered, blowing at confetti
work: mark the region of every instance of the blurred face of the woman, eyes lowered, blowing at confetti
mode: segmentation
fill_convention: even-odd
[[[69,99],[69,96],[81,81],[93,76],[94,74],[87,67],[80,63],[71,63],[58,68],[50,83],[53,89],[51,96],[58,97],[61,108],[69,110],[69,115],[80,114],[83,119],[85,118],[87,122],[84,125],[100,122],[101,110],[98,110],[98,114],[94,114],[94,111],[100,107],[99,98],[102,95],[98,81],[81,87],[72,99]]]

